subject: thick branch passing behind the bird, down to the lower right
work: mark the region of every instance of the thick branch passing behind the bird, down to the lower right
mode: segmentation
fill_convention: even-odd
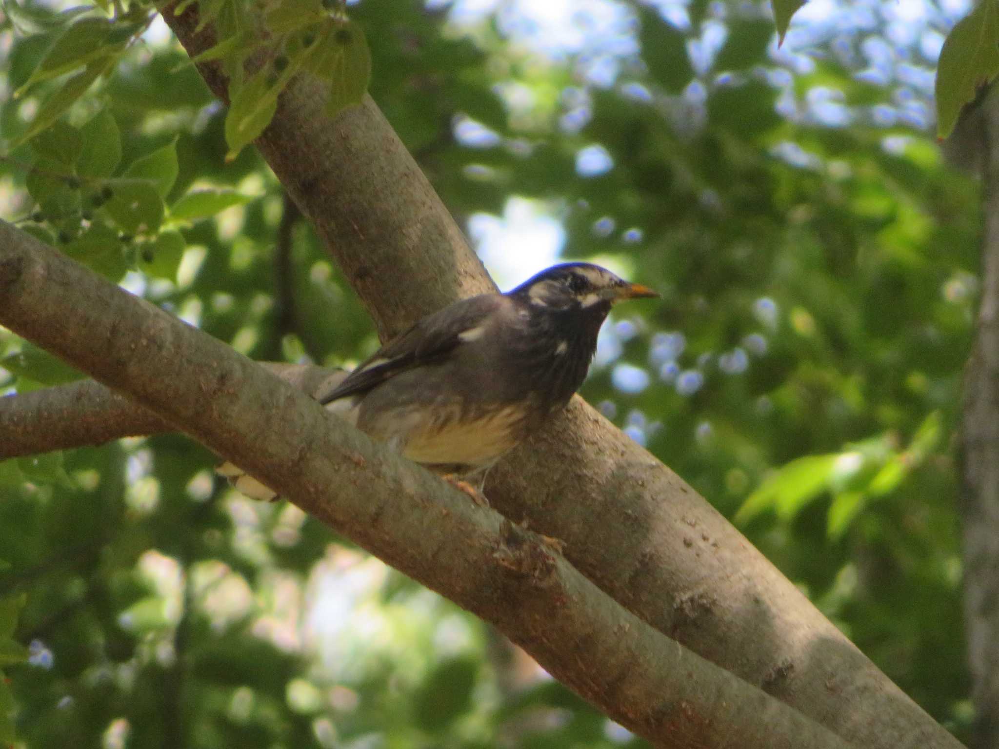
[[[164,19],[192,56],[192,5]],[[215,63],[199,66],[227,99]],[[361,296],[383,340],[493,288],[378,107],[331,122],[302,77],[256,145]],[[589,579],[660,632],[873,749],[955,747],[702,497],[580,398],[500,462],[488,494],[507,517],[566,543]]]

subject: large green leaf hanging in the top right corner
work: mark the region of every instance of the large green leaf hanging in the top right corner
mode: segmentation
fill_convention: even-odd
[[[982,0],[957,22],[940,50],[935,84],[937,134],[946,138],[961,109],[999,74],[999,0]]]

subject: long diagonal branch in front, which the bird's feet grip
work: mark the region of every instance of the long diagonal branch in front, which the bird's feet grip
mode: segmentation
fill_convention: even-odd
[[[493,622],[559,680],[654,745],[845,748],[832,732],[623,609],[554,544],[475,504],[222,343],[3,222],[0,324]],[[268,417],[275,413],[281,417]]]

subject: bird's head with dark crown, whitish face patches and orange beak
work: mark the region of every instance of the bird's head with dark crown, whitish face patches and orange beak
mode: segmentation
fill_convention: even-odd
[[[617,302],[659,296],[646,286],[630,284],[590,263],[552,266],[520,284],[509,295],[519,297],[535,308],[560,312],[598,311],[603,316]]]

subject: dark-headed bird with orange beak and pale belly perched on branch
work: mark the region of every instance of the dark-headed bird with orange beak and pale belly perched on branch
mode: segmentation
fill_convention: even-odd
[[[611,307],[658,296],[590,263],[552,266],[423,318],[317,399],[484,500],[490,467],[582,384]],[[277,498],[232,463],[218,471],[252,498]]]

